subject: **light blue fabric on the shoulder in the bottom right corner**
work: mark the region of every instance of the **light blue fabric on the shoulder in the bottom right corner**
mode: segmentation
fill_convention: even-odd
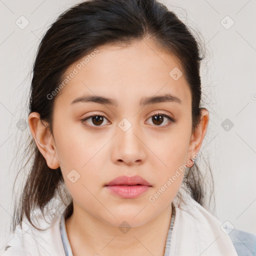
[[[256,255],[256,234],[234,228],[228,235],[238,256]]]

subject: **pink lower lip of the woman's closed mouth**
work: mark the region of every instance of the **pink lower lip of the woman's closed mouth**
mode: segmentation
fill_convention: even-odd
[[[146,192],[151,186],[147,185],[114,185],[106,186],[111,193],[116,194],[122,198],[136,198],[142,193]]]

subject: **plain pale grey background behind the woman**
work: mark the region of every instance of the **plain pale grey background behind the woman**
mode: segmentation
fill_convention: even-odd
[[[201,151],[214,177],[214,214],[221,223],[256,234],[256,1],[161,2],[199,31],[206,45],[201,79],[210,121]],[[8,242],[18,140],[29,134],[28,126],[22,130],[18,124],[27,120],[35,52],[51,22],[75,3],[0,0],[0,251]]]

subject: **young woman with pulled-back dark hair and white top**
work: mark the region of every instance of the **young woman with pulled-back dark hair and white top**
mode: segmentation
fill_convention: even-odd
[[[245,255],[255,236],[202,206],[201,59],[155,0],[61,14],[33,66],[33,164],[4,255]]]

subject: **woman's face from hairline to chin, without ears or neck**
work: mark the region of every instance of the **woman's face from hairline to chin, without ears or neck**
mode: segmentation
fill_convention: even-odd
[[[175,58],[149,42],[101,46],[90,56],[66,71],[54,102],[55,159],[75,207],[114,226],[139,226],[170,205],[182,182],[177,170],[192,156],[191,94]],[[77,100],[86,96],[112,101]],[[122,175],[150,186],[133,197],[105,186]]]

